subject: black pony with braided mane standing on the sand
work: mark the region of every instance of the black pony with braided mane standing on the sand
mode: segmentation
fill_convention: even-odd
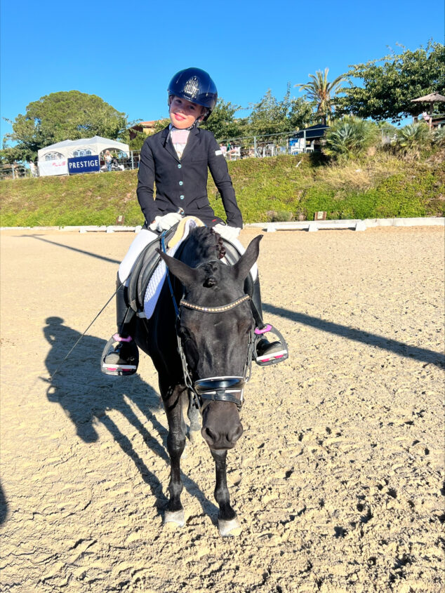
[[[230,505],[226,458],[243,432],[239,410],[254,328],[244,281],[258,258],[261,238],[255,237],[234,265],[220,261],[223,243],[208,227],[192,229],[177,258],[159,251],[174,278],[170,287],[164,283],[153,317],[136,322],[135,340],[159,373],[168,420],[171,474],[165,521],[184,524],[180,458],[186,441],[182,408],[188,404],[190,433],[200,428],[200,411],[201,434],[215,460],[221,535],[239,527]]]

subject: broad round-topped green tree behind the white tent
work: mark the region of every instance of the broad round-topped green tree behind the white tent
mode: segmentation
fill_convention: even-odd
[[[34,159],[37,150],[62,140],[91,138],[94,135],[112,140],[126,131],[127,119],[97,95],[79,91],[51,93],[27,105],[18,114],[12,133],[4,141],[15,142],[5,148],[8,159]]]

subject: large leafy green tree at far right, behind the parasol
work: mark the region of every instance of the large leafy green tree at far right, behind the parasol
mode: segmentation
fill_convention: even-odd
[[[444,94],[445,46],[430,41],[426,48],[404,49],[397,55],[350,66],[347,76],[350,87],[343,89],[343,97],[336,98],[339,114],[401,121],[422,110],[411,99],[434,92]],[[360,84],[354,86],[351,79]]]

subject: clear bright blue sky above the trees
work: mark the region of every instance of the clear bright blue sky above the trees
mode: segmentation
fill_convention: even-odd
[[[58,91],[100,96],[128,119],[167,115],[179,69],[206,69],[226,101],[279,99],[307,75],[444,43],[444,1],[1,1],[1,116]],[[297,88],[292,89],[300,96]],[[239,116],[248,112],[239,112]],[[11,126],[1,119],[1,137]]]

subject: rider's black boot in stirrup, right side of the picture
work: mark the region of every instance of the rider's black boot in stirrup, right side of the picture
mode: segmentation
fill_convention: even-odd
[[[281,334],[274,329],[270,324],[265,324],[263,321],[263,307],[261,305],[261,290],[260,290],[260,279],[257,276],[256,280],[253,281],[252,285],[252,313],[253,319],[255,319],[255,335],[257,336],[255,342],[255,352],[253,353],[253,359],[260,366],[267,366],[286,360],[288,357],[287,345]],[[276,334],[279,340],[270,342],[265,338],[267,332]]]

